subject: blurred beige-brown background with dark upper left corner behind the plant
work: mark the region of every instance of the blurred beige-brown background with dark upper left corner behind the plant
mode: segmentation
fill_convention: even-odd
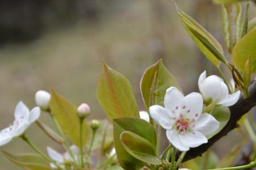
[[[210,0],[179,0],[177,5],[224,45],[220,5]],[[255,9],[251,1],[250,18]],[[197,79],[205,69],[217,74],[185,32],[171,0],[1,0],[0,129],[13,121],[19,100],[32,108],[35,92],[49,87],[76,105],[90,104],[90,119],[106,118],[96,98],[102,59],[127,76],[143,110],[139,82],[159,58],[185,94],[198,91]],[[47,114],[41,120],[53,127]],[[46,146],[61,151],[35,125],[27,135],[43,151]],[[240,138],[230,133],[213,149],[221,158]],[[20,139],[1,150],[32,152]],[[0,169],[20,168],[0,154]]]

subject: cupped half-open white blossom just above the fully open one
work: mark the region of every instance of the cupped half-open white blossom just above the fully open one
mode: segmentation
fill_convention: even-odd
[[[199,90],[205,100],[212,99],[212,101],[216,101],[216,104],[226,107],[237,103],[240,91],[229,95],[228,86],[220,77],[217,75],[206,76],[206,71],[204,71],[198,80]]]

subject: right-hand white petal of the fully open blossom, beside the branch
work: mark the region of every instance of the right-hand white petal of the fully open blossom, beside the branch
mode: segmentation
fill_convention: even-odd
[[[195,122],[193,130],[199,131],[204,135],[208,135],[216,131],[219,126],[220,122],[218,122],[216,118],[208,113],[203,113]]]

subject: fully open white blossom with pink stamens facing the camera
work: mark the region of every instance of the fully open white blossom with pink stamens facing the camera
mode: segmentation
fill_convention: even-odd
[[[171,144],[180,151],[188,151],[207,143],[205,135],[216,131],[220,123],[203,111],[203,97],[197,92],[184,96],[176,87],[170,87],[164,96],[164,108],[150,107],[151,117],[166,129]]]

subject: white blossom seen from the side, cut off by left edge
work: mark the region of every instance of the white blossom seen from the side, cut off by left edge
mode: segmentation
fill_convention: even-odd
[[[22,135],[27,128],[40,117],[40,108],[35,107],[31,111],[19,101],[14,112],[14,122],[8,128],[0,131],[0,146],[6,145],[15,137]]]

